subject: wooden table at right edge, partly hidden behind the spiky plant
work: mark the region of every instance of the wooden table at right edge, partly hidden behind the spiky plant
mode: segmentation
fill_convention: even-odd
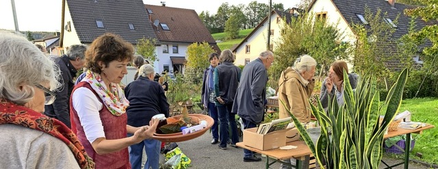
[[[388,131],[388,134],[383,135],[383,138],[392,138],[392,137],[397,136],[397,135],[406,135],[406,140],[404,142],[404,144],[405,144],[405,146],[404,146],[404,161],[399,163],[399,164],[394,164],[393,166],[388,166],[388,164],[386,164],[385,161],[382,160],[383,164],[385,164],[385,166],[387,166],[387,168],[393,168],[395,166],[400,166],[400,165],[404,164],[404,169],[408,169],[409,168],[409,151],[411,149],[411,133],[420,134],[420,133],[422,133],[422,131],[424,131],[426,129],[431,129],[433,127],[435,127],[435,126],[428,125],[426,127],[421,127],[419,129],[415,129],[415,130],[401,129],[399,127],[397,129],[397,131]]]

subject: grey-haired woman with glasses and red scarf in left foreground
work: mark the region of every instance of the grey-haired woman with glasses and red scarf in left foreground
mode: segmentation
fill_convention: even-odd
[[[94,168],[62,122],[44,116],[59,69],[22,36],[0,32],[0,168]]]

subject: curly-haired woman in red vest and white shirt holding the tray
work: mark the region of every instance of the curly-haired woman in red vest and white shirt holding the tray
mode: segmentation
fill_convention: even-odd
[[[149,126],[127,125],[129,101],[118,83],[127,74],[133,54],[133,46],[120,36],[99,36],[86,51],[86,77],[72,92],[72,130],[96,168],[131,168],[127,147],[151,138],[158,124],[153,119]],[[127,138],[127,133],[133,136]]]

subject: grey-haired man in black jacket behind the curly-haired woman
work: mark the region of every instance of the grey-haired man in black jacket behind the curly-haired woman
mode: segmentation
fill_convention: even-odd
[[[60,68],[62,88],[56,93],[55,102],[44,107],[44,114],[51,118],[56,118],[70,128],[70,94],[75,86],[73,78],[76,77],[77,70],[83,68],[85,64],[85,44],[73,44],[70,50],[61,57],[51,57],[53,62]]]

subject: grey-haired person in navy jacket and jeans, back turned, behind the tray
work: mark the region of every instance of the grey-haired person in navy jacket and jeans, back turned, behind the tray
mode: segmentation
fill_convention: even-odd
[[[157,81],[153,81],[155,76],[153,66],[144,64],[140,67],[138,74],[140,75],[138,79],[129,83],[125,88],[125,96],[129,101],[129,107],[127,107],[128,125],[132,127],[149,124],[151,118],[157,114],[169,116],[169,103],[167,103],[164,90]],[[161,142],[146,139],[130,147],[129,161],[132,168],[141,167],[144,148],[148,157],[144,168],[158,169]]]

